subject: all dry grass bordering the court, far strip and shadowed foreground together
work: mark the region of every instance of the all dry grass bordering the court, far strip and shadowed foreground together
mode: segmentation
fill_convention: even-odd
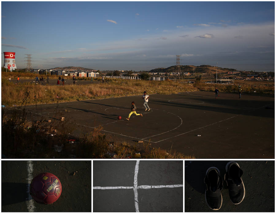
[[[26,77],[22,77],[23,75]],[[20,73],[21,79],[34,79],[36,75],[32,75]],[[148,94],[175,94],[195,90],[213,91],[216,87],[214,84],[203,83],[192,85],[174,81],[122,79],[108,79],[103,84],[60,87],[32,83],[15,85],[9,83],[7,78],[8,76],[2,72],[2,105],[21,106],[20,110],[2,108],[2,154],[7,158],[133,158],[138,157],[136,153],[140,153],[142,158],[194,158],[192,155],[185,156],[181,153],[152,148],[150,143],[131,146],[128,143],[113,142],[112,139],[105,138],[105,134],[101,133],[101,127],[89,134],[79,136],[78,139],[71,139],[68,133],[74,129],[70,125],[73,123],[70,121],[63,121],[63,123],[58,120],[48,123],[42,118],[37,118],[37,115],[35,121],[33,115],[25,111],[24,106],[132,96],[141,94],[144,89],[147,89]],[[237,90],[236,85],[219,85],[218,87],[220,92]],[[261,94],[274,94],[272,86],[242,84],[242,87],[245,93],[257,91]]]

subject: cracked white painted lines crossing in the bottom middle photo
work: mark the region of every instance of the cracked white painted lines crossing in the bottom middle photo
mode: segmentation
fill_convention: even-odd
[[[134,169],[133,186],[93,186],[93,190],[133,189],[135,211],[139,212],[139,201],[138,201],[138,191],[137,191],[137,189],[147,190],[147,189],[157,189],[157,188],[177,188],[177,187],[183,187],[183,184],[173,184],[173,185],[140,185],[140,186],[138,186],[139,163],[140,163],[140,160],[136,160],[136,165],[135,165],[135,169]]]

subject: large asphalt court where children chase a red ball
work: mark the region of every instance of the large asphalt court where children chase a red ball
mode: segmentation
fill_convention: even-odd
[[[76,125],[75,135],[102,126],[112,140],[143,140],[195,158],[274,158],[274,96],[219,95],[215,99],[213,92],[202,91],[150,94],[147,112],[142,94],[26,109],[48,120],[65,117]],[[132,101],[143,117],[132,114],[127,121]],[[119,115],[122,120],[117,119]]]

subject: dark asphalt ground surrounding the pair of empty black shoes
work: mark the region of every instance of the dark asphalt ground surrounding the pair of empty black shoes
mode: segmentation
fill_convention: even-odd
[[[204,178],[209,167],[217,167],[224,178],[228,161],[185,161],[185,212],[274,212],[275,211],[275,163],[273,161],[236,160],[243,170],[245,197],[234,205],[223,183],[222,206],[211,210],[205,202]]]

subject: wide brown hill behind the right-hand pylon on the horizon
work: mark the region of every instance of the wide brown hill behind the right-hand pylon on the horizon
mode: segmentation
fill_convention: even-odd
[[[231,68],[220,68],[216,66],[211,65],[200,65],[200,66],[194,66],[194,65],[180,65],[181,72],[194,72],[194,73],[207,73],[207,74],[213,74],[213,73],[227,73],[231,71],[236,71],[236,69]],[[178,68],[176,65],[168,67],[168,68],[155,68],[150,70],[149,72],[178,72]]]

